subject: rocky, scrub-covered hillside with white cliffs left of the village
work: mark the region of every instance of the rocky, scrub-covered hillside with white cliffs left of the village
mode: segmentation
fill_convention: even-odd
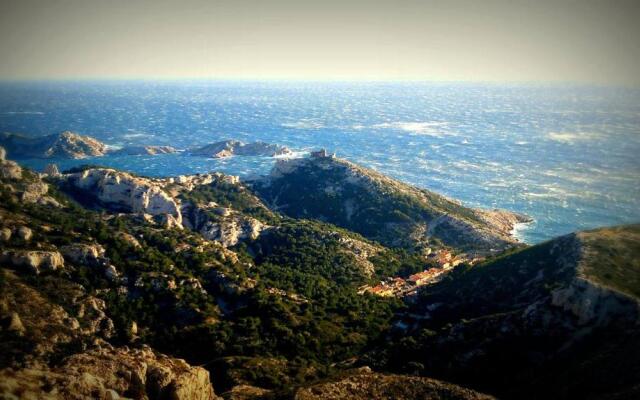
[[[388,329],[401,303],[357,287],[420,267],[338,227],[281,217],[222,174],[88,167],[43,178],[0,160],[0,195],[3,393],[55,398],[80,385],[153,398],[169,384],[167,396],[193,398],[170,392],[185,371],[209,374],[215,393],[290,393]],[[242,221],[265,229],[242,235]],[[141,363],[167,378],[118,378]]]

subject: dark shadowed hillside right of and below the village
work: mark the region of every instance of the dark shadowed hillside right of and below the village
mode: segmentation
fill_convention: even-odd
[[[388,366],[506,398],[637,395],[639,228],[459,267],[399,317]]]

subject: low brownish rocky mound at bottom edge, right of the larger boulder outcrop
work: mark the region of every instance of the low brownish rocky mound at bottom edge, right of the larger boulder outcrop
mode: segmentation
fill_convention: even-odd
[[[493,398],[435,379],[379,374],[371,372],[366,367],[352,371],[342,378],[300,389],[295,395],[296,400],[489,400]]]

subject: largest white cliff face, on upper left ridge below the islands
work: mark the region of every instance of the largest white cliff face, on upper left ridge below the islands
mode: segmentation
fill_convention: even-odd
[[[182,223],[180,208],[159,183],[113,169],[87,169],[65,175],[77,189],[114,210],[150,215],[167,214]]]

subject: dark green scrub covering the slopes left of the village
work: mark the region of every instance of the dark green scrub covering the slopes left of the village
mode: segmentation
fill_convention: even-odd
[[[47,290],[59,304],[64,299],[46,289],[42,277],[82,285],[106,301],[117,332],[114,344],[147,343],[192,364],[206,364],[215,382],[226,382],[218,390],[238,382],[286,389],[332,375],[379,340],[403,307],[395,299],[358,295],[357,288],[383,274],[422,267],[417,258],[344,229],[283,219],[235,185],[200,187],[183,200],[215,201],[277,224],[258,240],[237,246],[238,261],[196,233],[162,229],[134,215],[116,216],[66,185],[50,192],[62,208],[20,204],[8,191],[0,194],[1,208],[34,230],[31,244],[13,238],[7,246],[97,243],[122,278],[111,281],[97,267],[67,263],[63,271],[44,273],[30,285]],[[380,248],[373,258],[377,275],[363,273],[341,244],[343,237]],[[194,280],[202,289],[185,283]],[[129,332],[134,321],[135,338]]]

